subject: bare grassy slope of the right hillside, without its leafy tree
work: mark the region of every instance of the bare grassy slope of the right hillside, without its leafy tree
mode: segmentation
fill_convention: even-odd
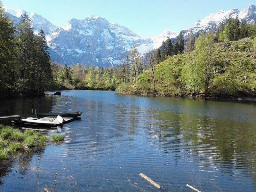
[[[212,44],[214,67],[209,84],[209,97],[253,97],[256,94],[256,48],[253,39]],[[192,96],[185,81],[185,70],[191,54],[179,54],[156,66],[156,95]],[[152,72],[145,70],[134,85],[122,84],[117,91],[127,94],[152,95]],[[196,97],[204,96],[204,89],[196,90]]]

